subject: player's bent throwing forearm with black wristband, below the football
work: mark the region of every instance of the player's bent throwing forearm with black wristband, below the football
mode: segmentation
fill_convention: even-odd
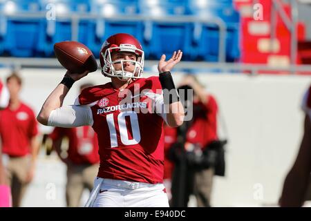
[[[85,77],[86,75],[88,75],[88,71],[82,74],[74,74],[74,73],[70,73],[69,71],[67,71],[64,77],[70,77],[71,79],[73,79],[73,81],[77,81],[81,79],[82,77]],[[41,108],[41,111],[39,112],[39,115],[37,116],[37,121],[39,123],[44,124],[46,126],[52,126],[52,125],[48,125],[48,118],[50,117],[50,114],[52,113],[52,111],[55,111],[57,108],[62,107],[64,99],[69,90],[70,90],[70,87],[68,88],[68,86],[65,86],[64,84],[57,85],[57,87],[53,90],[52,93],[50,93],[50,95],[44,102]],[[68,111],[68,109],[66,109],[65,111]]]

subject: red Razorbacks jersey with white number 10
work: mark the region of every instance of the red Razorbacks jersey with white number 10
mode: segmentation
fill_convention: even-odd
[[[79,104],[91,106],[100,146],[99,177],[162,183],[163,119],[152,111],[161,93],[158,77],[149,77],[133,81],[122,91],[110,82],[79,95]]]

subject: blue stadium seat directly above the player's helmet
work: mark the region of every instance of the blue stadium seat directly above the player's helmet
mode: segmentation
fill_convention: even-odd
[[[127,19],[109,19],[109,17],[118,17],[126,15],[138,15],[137,1],[91,1],[91,12],[99,17],[105,16],[106,19],[96,19],[89,23],[89,33],[86,45],[92,50],[95,57],[100,56],[100,48],[104,40],[109,36],[119,32],[125,32],[136,37],[142,42],[142,22],[127,21]],[[142,45],[144,48],[144,45]]]

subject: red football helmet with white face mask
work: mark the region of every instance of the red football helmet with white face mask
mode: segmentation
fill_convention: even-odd
[[[112,52],[132,52],[136,55],[136,61],[117,59],[113,61]],[[124,62],[134,66],[132,71],[124,70]],[[144,69],[144,51],[137,39],[128,34],[116,34],[107,39],[100,52],[102,74],[106,77],[117,77],[122,81],[132,78],[141,78]],[[121,70],[115,70],[115,64],[120,64]]]

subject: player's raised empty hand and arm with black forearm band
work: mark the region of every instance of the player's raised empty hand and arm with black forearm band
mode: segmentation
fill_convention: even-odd
[[[166,56],[162,55],[162,57],[159,61],[159,64],[158,64],[159,78],[160,78],[160,82],[162,84],[162,88],[164,87],[164,84],[163,84],[163,80],[161,81],[161,77],[164,77],[164,78],[162,78],[162,79],[164,79],[164,81],[169,80],[169,81],[171,81],[171,84],[173,84],[173,79],[171,78],[171,76],[168,76],[167,73],[169,75],[171,75],[169,72],[171,71],[173,66],[178,64],[178,62],[182,58],[182,51],[178,50],[177,53],[174,52],[171,59],[169,59],[167,61],[165,61],[165,58],[166,58]],[[167,76],[165,76],[165,75],[167,75]],[[167,78],[167,79],[165,79],[165,78]],[[172,85],[172,86],[173,86],[173,88],[175,88],[174,85]],[[163,89],[167,89],[167,88],[164,87]],[[169,89],[171,89],[171,88],[169,88]],[[167,121],[167,124],[169,126],[176,127],[176,126],[182,125],[182,123],[184,122],[185,111],[184,111],[184,108],[183,108],[182,103],[180,101],[169,103],[168,110],[166,110],[166,111],[167,111],[166,121]]]

